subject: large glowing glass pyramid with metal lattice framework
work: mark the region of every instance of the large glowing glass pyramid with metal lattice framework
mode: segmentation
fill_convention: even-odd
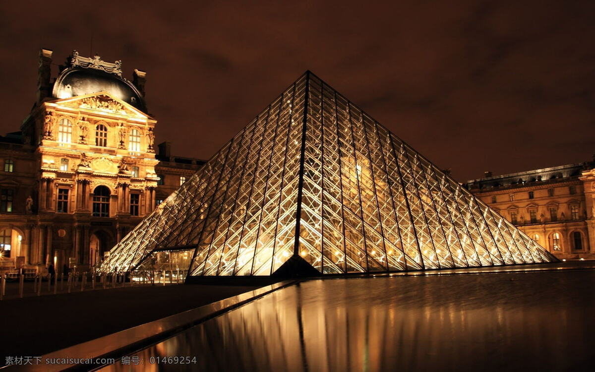
[[[557,261],[309,71],[99,270],[155,252],[184,252],[190,276],[268,276],[288,261],[322,274]]]

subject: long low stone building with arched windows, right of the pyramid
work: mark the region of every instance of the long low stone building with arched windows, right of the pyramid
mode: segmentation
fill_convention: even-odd
[[[595,258],[595,161],[486,172],[465,186],[556,257]]]

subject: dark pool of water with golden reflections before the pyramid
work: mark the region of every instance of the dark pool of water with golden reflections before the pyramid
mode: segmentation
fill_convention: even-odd
[[[562,370],[593,361],[595,271],[314,280],[105,371]],[[151,365],[153,356],[196,364]]]

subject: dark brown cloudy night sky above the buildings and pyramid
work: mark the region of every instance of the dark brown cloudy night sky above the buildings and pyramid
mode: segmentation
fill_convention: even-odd
[[[39,48],[60,64],[93,35],[148,71],[176,155],[209,158],[306,69],[460,181],[595,152],[593,1],[80,3],[1,3],[0,132],[33,104]]]

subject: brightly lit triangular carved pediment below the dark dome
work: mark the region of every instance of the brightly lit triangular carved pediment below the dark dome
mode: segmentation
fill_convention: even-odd
[[[148,116],[120,99],[114,98],[107,92],[93,93],[91,95],[76,96],[55,101],[56,104],[66,107],[82,108],[105,112],[108,114],[126,115],[135,118],[148,118]]]

